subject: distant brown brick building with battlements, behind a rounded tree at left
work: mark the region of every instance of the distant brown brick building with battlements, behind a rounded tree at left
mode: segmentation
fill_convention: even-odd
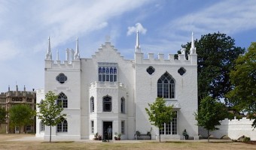
[[[5,107],[5,110],[10,110],[16,104],[29,104],[32,107],[32,110],[35,110],[35,92],[34,89],[32,92],[26,92],[26,87],[24,86],[23,91],[18,91],[18,86],[16,86],[16,91],[2,92],[0,94],[0,107]],[[26,125],[20,129],[21,133],[33,133],[35,132],[35,118],[33,118],[33,124]],[[6,124],[2,124],[0,127],[0,133],[18,133],[18,127],[10,126],[10,119],[7,115]]]

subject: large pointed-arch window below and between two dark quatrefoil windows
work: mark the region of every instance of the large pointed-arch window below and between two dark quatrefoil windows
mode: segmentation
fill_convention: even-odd
[[[175,80],[167,72],[157,81],[158,98],[175,98]]]

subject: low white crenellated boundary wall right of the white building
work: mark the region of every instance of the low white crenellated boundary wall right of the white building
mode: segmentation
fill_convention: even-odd
[[[210,134],[216,138],[221,139],[223,136],[229,136],[230,139],[239,139],[241,136],[250,137],[251,140],[256,140],[256,129],[251,127],[254,120],[248,118],[229,120],[225,118],[220,121],[221,125],[217,126],[219,130],[211,131]],[[201,136],[207,137],[207,130],[199,127]]]

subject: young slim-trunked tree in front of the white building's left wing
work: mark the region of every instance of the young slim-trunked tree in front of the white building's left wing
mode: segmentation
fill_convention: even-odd
[[[51,142],[51,127],[56,126],[66,114],[62,114],[62,104],[56,103],[57,96],[53,92],[48,92],[45,95],[45,100],[38,105],[38,118],[41,119],[44,125],[50,126],[50,142]]]

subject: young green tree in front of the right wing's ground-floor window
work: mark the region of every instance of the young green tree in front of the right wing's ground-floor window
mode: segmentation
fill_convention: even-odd
[[[153,104],[148,104],[148,108],[145,108],[149,116],[151,124],[158,127],[159,130],[163,129],[163,124],[172,121],[175,113],[172,111],[172,106],[166,106],[166,101],[163,98],[157,98]],[[159,142],[161,142],[161,136],[159,133]]]

